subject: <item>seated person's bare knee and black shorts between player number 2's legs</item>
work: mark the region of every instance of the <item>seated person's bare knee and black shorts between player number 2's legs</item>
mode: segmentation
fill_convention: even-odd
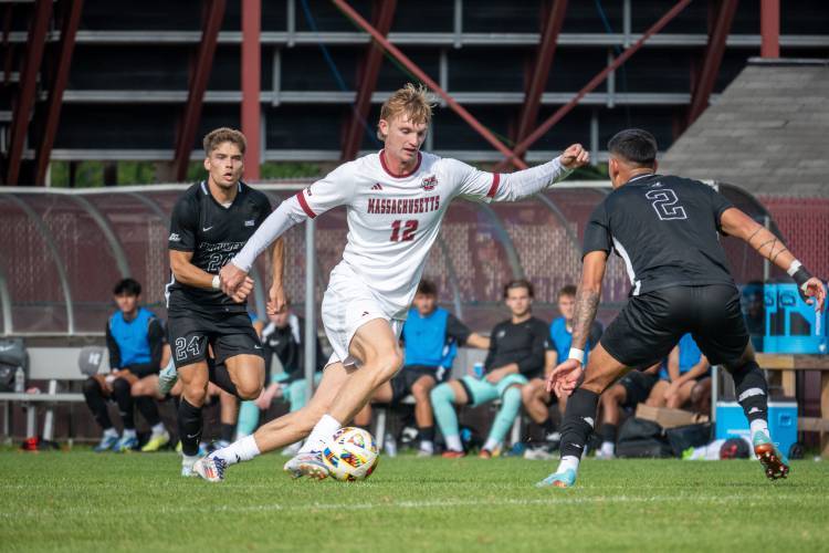
[[[616,457],[616,438],[621,408],[636,409],[637,405],[648,399],[651,389],[659,380],[660,366],[661,364],[657,363],[646,371],[631,371],[601,395],[599,398],[601,447],[596,451],[597,459]]]

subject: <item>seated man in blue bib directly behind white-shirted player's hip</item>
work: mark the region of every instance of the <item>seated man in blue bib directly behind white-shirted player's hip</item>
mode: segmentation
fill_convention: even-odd
[[[438,306],[438,286],[421,280],[400,336],[406,352],[406,365],[371,397],[372,403],[396,405],[411,394],[414,397],[414,422],[418,426],[418,455],[434,453],[434,417],[429,394],[447,380],[458,346],[481,349],[490,347],[490,340],[469,330],[453,314]],[[368,426],[371,406],[367,405],[355,418],[355,425]]]

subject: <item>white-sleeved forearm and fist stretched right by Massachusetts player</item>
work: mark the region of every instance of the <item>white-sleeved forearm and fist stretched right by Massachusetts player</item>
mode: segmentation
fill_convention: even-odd
[[[495,201],[515,201],[541,192],[564,180],[574,169],[590,161],[590,154],[580,144],[574,144],[560,156],[544,165],[501,175]]]

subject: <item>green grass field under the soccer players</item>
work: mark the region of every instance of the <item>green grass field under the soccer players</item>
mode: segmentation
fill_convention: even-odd
[[[283,458],[222,484],[174,453],[0,452],[0,551],[829,550],[829,462],[585,462],[538,490],[523,459],[381,459],[365,482],[292,481]]]

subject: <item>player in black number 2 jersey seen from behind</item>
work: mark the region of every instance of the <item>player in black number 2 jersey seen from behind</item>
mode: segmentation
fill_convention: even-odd
[[[787,271],[809,305],[822,312],[820,280],[783,241],[696,180],[657,175],[657,140],[627,129],[608,143],[613,192],[585,229],[584,267],[576,298],[573,347],[547,380],[570,396],[562,429],[558,470],[538,483],[568,488],[576,481],[585,442],[594,429],[599,395],[631,368],[665,357],[691,333],[712,365],[724,365],[751,424],[755,455],[770,479],[785,478],[788,461],[768,435],[767,385],[755,361],[739,292],[728,272],[718,234],[746,241]],[[615,250],[631,281],[630,300],[608,326],[585,371],[584,345],[596,316],[607,258]]]

